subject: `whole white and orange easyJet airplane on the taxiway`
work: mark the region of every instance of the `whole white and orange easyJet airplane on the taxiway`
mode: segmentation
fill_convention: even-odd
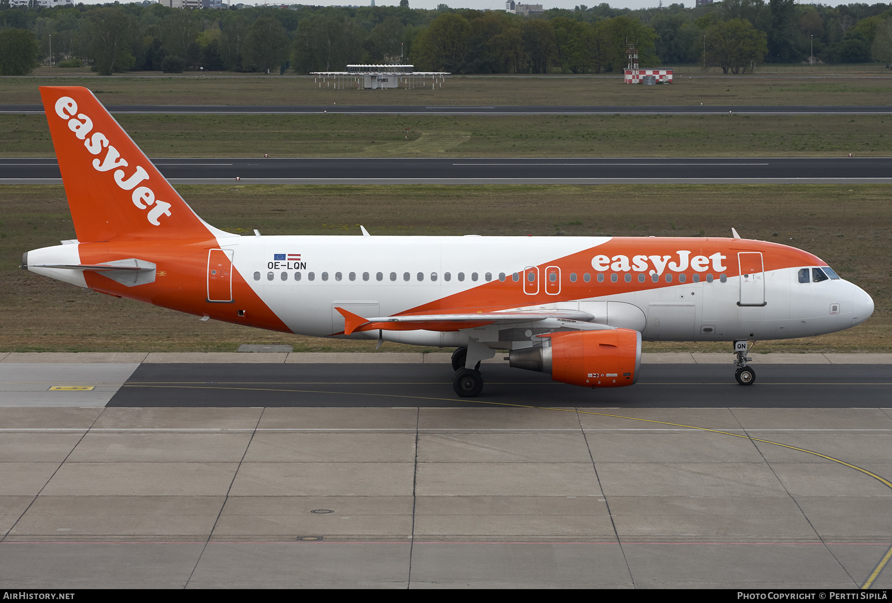
[[[459,396],[480,362],[584,387],[632,385],[641,340],[747,345],[833,333],[870,295],[786,245],[734,238],[233,235],[199,218],[83,87],[41,87],[78,238],[22,268],[240,325],[455,347]]]

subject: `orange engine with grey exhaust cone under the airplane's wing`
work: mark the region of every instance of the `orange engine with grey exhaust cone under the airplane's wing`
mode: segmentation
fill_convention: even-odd
[[[624,387],[638,381],[641,334],[632,329],[562,331],[542,335],[550,347],[512,350],[510,365],[551,373],[551,379],[583,387]]]

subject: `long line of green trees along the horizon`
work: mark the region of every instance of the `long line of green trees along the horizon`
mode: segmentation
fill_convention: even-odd
[[[40,64],[128,70],[298,73],[411,62],[452,73],[610,73],[638,45],[641,67],[700,63],[746,72],[762,62],[892,65],[889,4],[723,0],[686,8],[503,11],[399,6],[229,10],[134,4],[10,8],[0,2],[0,74]]]

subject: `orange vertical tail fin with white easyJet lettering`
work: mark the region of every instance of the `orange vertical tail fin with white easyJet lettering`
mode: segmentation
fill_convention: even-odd
[[[232,236],[199,218],[85,87],[40,87],[81,243]]]

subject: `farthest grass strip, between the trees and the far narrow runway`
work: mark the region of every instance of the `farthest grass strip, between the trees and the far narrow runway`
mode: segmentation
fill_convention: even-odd
[[[846,66],[843,66],[846,67]],[[79,71],[79,72],[78,72]],[[313,78],[249,74],[118,74],[42,67],[37,77],[0,78],[2,103],[39,103],[38,86],[86,86],[109,104],[888,104],[892,78],[881,66],[815,74],[728,75],[684,70],[672,85],[630,86],[622,75],[449,76],[435,91],[318,88]]]

